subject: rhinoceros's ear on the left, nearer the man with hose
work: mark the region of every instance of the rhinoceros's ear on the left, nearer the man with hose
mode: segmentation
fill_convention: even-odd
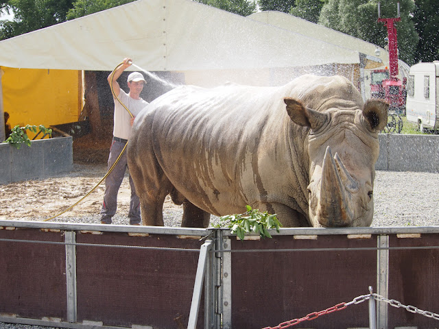
[[[320,113],[311,108],[305,108],[297,99],[285,97],[287,112],[292,121],[303,127],[310,127],[312,130],[319,130],[329,119],[329,114]]]

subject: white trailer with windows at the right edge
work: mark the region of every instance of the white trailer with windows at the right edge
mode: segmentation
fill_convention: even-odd
[[[439,61],[410,67],[407,82],[407,121],[424,128],[439,129]]]

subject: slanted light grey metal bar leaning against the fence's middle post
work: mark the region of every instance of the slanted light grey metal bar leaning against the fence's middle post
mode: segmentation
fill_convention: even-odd
[[[209,251],[212,249],[213,241],[208,240],[200,248],[200,256],[198,257],[197,274],[195,276],[195,284],[193,285],[193,295],[191,303],[191,312],[189,313],[189,321],[187,329],[197,328],[198,310],[200,310],[201,293],[203,289],[204,271],[209,256]],[[209,310],[204,310],[209,312]],[[207,324],[206,324],[207,325]]]

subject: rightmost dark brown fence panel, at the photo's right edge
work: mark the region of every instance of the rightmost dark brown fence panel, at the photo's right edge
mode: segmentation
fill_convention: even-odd
[[[390,247],[438,246],[437,234],[420,238],[400,239],[390,235]],[[398,249],[389,252],[389,299],[439,314],[439,249]],[[388,307],[389,328],[417,326],[438,328],[438,320],[430,319],[405,308]]]

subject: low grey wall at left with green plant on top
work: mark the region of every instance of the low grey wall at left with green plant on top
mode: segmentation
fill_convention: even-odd
[[[16,149],[0,143],[0,184],[48,178],[73,169],[73,138],[56,137],[32,141]]]

